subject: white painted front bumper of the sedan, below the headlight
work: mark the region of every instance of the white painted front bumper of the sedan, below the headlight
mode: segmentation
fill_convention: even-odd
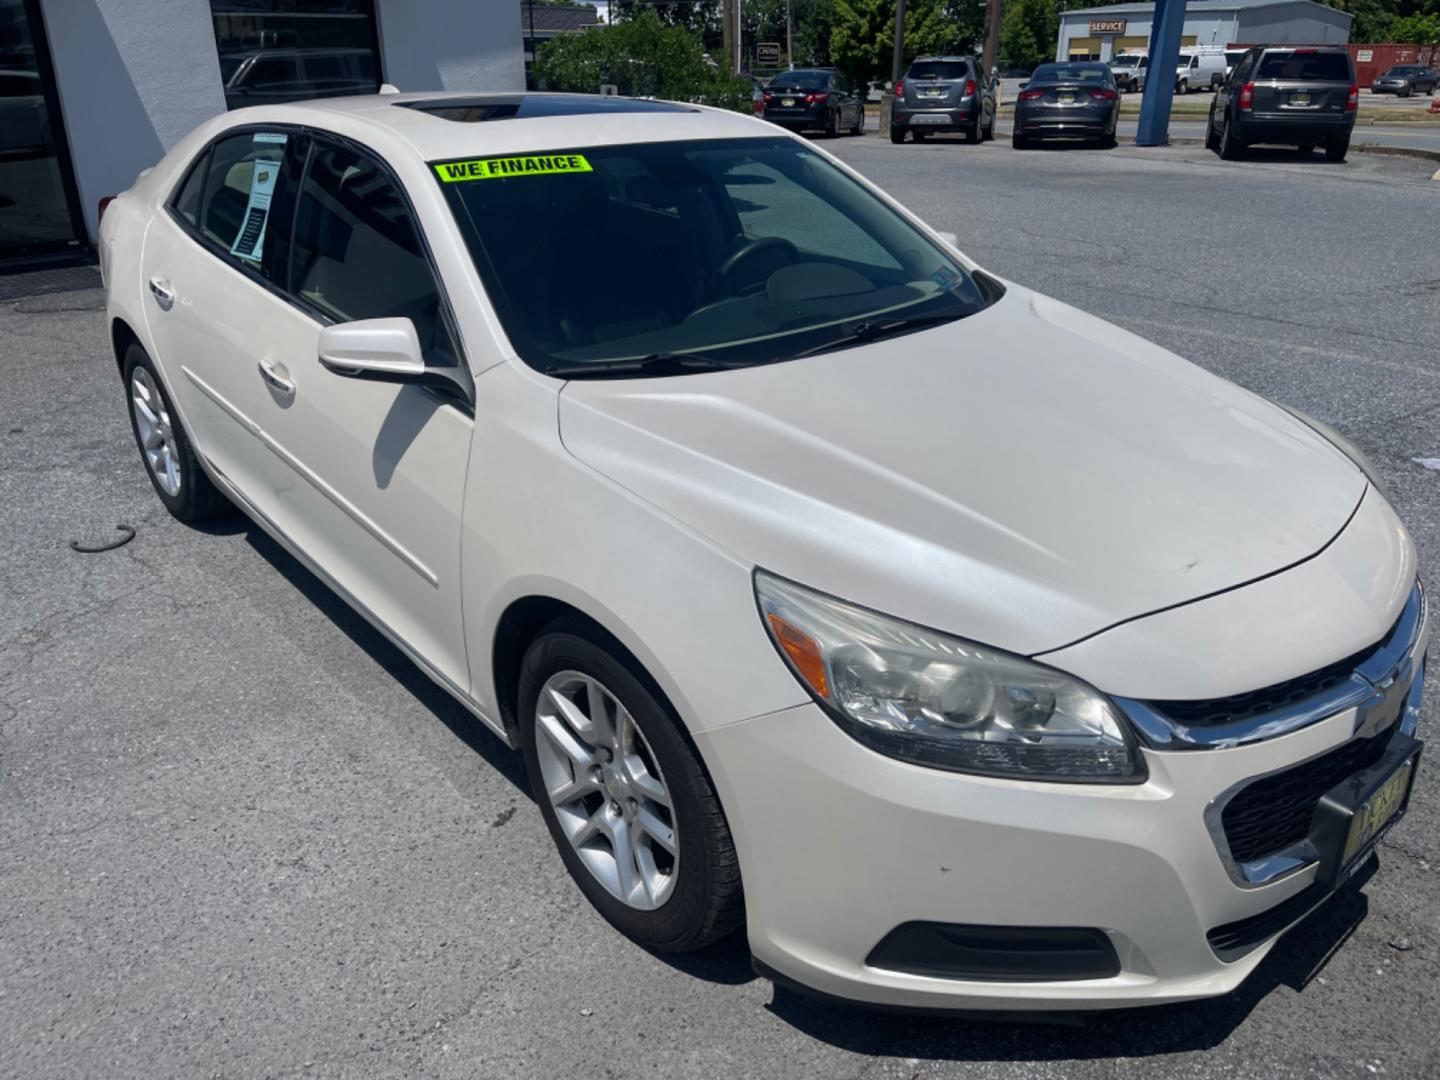
[[[1315,865],[1238,883],[1207,809],[1248,779],[1351,742],[1355,729],[1349,708],[1248,746],[1145,750],[1148,779],[1126,786],[906,765],[855,743],[814,704],[697,739],[730,808],[757,966],[883,1007],[1090,1009],[1225,994],[1328,897],[1313,887]],[[1270,913],[1279,922],[1266,923]],[[867,963],[914,922],[1093,927],[1119,971],[1005,982]],[[1211,932],[1254,922],[1264,929],[1241,955],[1217,955]]]

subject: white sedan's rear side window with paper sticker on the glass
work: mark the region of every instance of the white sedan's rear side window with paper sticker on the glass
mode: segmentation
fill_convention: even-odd
[[[281,171],[291,137],[279,131],[246,131],[222,138],[210,150],[200,193],[200,235],[223,248],[239,262],[265,276],[266,246],[274,248],[275,222],[271,213],[281,192]],[[187,184],[189,187],[189,184]],[[186,192],[180,193],[184,197]],[[180,209],[180,203],[176,204]]]

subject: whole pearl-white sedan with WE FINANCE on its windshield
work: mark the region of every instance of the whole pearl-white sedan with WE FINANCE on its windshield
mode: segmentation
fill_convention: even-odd
[[[1404,814],[1426,606],[1359,451],[762,121],[243,109],[101,256],[166,507],[239,507],[521,750],[647,946],[1200,998]]]

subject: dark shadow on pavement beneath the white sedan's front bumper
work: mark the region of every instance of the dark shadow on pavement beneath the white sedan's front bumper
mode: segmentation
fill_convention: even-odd
[[[1377,860],[1355,884],[1374,876]],[[1344,888],[1295,926],[1233,992],[1205,1001],[1100,1012],[1044,1012],[1004,1020],[942,1018],[865,1011],[776,986],[766,1007],[812,1038],[858,1054],[953,1061],[1061,1061],[1148,1057],[1224,1043],[1280,986],[1302,994],[1368,912],[1358,888]]]

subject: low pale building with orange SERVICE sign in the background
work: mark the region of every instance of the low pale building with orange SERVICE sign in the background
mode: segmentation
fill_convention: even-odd
[[[1189,0],[1181,48],[1197,45],[1344,45],[1355,16],[1312,0]],[[1145,52],[1155,4],[1061,12],[1057,60],[1109,60]]]

